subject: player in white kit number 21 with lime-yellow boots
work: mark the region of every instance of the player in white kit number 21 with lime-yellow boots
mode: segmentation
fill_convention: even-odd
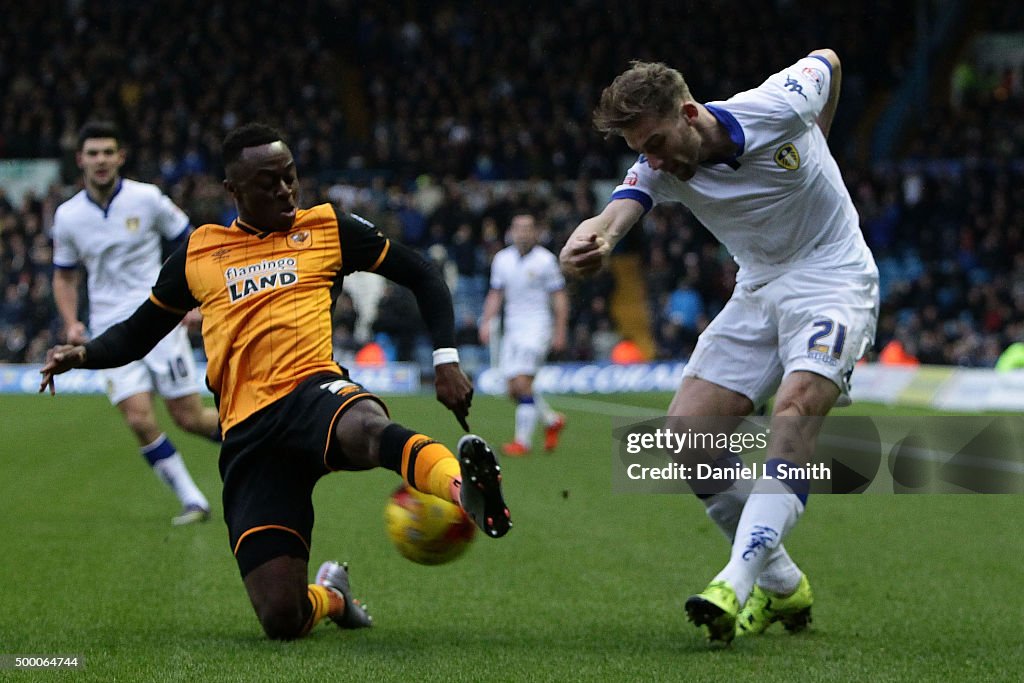
[[[655,204],[693,212],[739,271],[669,415],[738,418],[774,394],[770,473],[806,462],[820,423],[812,418],[849,401],[850,374],[874,337],[878,269],[826,142],[840,84],[839,57],[821,49],[705,104],[679,72],[634,62],[602,93],[594,123],[640,157],[560,255],[566,273],[587,275]],[[729,642],[775,622],[799,631],[810,621],[810,585],[782,546],[808,489],[807,480],[764,477],[700,495],[732,544],[729,562],[685,605],[710,639]]]

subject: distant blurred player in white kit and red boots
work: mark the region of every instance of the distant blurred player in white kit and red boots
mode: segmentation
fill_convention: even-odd
[[[515,437],[502,450],[508,456],[524,456],[532,447],[538,416],[545,426],[546,451],[558,445],[558,435],[565,427],[565,418],[535,391],[534,378],[549,350],[565,348],[568,297],[558,259],[538,244],[534,216],[514,215],[509,238],[512,245],[495,254],[490,264],[490,291],[483,302],[480,341],[490,341],[492,322],[504,303],[501,370],[516,410]]]

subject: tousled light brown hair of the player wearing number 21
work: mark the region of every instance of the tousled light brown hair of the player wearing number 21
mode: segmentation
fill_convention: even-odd
[[[660,61],[634,60],[601,92],[601,101],[594,110],[594,127],[607,135],[618,135],[646,116],[666,117],[678,112],[686,99],[690,99],[690,88],[678,71]]]

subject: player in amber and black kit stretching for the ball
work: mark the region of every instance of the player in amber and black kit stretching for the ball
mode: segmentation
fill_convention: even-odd
[[[312,488],[336,470],[386,467],[425,493],[461,505],[486,536],[511,518],[495,455],[467,434],[459,457],[392,422],[383,401],[332,357],[331,311],[345,274],[377,272],[416,295],[434,342],[437,399],[468,431],[473,394],[459,366],[452,297],[440,273],[372,223],[331,205],[298,208],[295,161],[262,124],[223,143],[230,225],[203,225],[161,270],[150,300],[83,346],[47,354],[40,390],[72,368],[141,357],[199,306],[220,411],[220,473],[231,550],[267,636],[298,638],[325,616],[371,626],[344,565],[326,562],[308,583]]]

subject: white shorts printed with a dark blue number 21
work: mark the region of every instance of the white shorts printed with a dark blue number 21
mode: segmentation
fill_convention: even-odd
[[[767,401],[798,370],[831,380],[850,404],[854,365],[874,343],[879,282],[843,270],[795,269],[763,287],[736,286],[697,341],[684,377]]]

